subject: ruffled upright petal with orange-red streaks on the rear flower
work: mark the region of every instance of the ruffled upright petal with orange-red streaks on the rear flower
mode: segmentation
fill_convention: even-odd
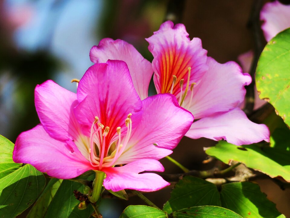
[[[154,57],[152,65],[157,93],[169,92],[172,75],[176,75],[177,82],[172,94],[177,96],[180,79],[184,79],[184,84],[187,82],[188,67],[192,68],[190,83],[198,83],[208,69],[207,51],[202,49],[201,40],[193,38],[190,41],[183,24],[174,26],[172,21],[166,21],[146,40]]]

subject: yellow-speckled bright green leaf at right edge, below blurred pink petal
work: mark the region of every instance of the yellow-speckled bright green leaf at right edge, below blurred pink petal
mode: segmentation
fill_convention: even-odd
[[[265,46],[256,69],[259,98],[268,99],[290,126],[290,28],[277,34]]]

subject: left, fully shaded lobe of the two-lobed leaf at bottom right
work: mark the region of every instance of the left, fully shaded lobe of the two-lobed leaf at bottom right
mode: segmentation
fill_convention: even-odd
[[[185,176],[175,185],[163,210],[172,213],[183,208],[203,205],[221,206],[217,187],[201,178]]]

